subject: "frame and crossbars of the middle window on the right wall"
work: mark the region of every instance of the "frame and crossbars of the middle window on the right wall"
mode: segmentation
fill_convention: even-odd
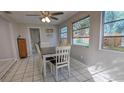
[[[86,18],[90,18],[90,15],[87,15],[87,16],[85,16],[85,17],[83,17],[83,18],[81,18],[81,19],[79,19],[79,20],[76,20],[76,21],[74,21],[74,22],[72,22],[72,45],[74,45],[74,46],[81,46],[81,47],[84,47],[84,48],[89,48],[90,47],[90,26],[89,27],[84,27],[84,28],[80,28],[80,29],[77,29],[77,30],[82,30],[82,29],[86,29],[86,28],[89,28],[89,37],[74,37],[74,31],[77,31],[77,30],[73,30],[73,24],[74,23],[77,23],[77,22],[79,22],[79,21],[81,21],[81,20],[84,20],[84,19],[86,19]],[[90,19],[89,19],[89,21],[90,21]],[[77,44],[74,44],[74,41],[73,41],[73,39],[74,38],[89,38],[89,46],[84,46],[84,45],[77,45]]]

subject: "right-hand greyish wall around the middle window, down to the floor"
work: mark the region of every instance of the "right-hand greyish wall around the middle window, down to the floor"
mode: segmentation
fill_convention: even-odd
[[[72,40],[72,22],[87,15],[90,15],[91,17],[90,47],[83,48],[81,46],[72,45],[71,56],[80,60],[81,62],[86,63],[87,65],[99,63],[106,66],[112,65],[115,62],[124,62],[124,53],[99,49],[101,12],[79,12],[78,14],[67,20],[65,23],[61,24],[60,26],[68,26],[68,41],[71,42]],[[81,56],[83,56],[83,59],[81,59]]]

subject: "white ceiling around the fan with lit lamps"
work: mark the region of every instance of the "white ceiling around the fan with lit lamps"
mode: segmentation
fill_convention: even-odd
[[[51,11],[58,12],[58,11]],[[63,11],[63,15],[55,16],[59,20],[51,20],[50,24],[59,25],[60,23],[66,21],[68,18],[72,17],[78,11]],[[26,16],[26,14],[40,14],[39,11],[12,11],[12,14],[8,14],[8,16],[13,19],[17,23],[33,23],[33,24],[43,24],[38,16]]]

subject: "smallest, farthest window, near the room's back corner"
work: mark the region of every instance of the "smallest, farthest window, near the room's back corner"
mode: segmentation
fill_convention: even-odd
[[[67,42],[67,26],[60,29],[60,43]]]

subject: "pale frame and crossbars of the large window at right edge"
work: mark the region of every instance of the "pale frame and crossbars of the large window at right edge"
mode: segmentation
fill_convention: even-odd
[[[119,22],[119,21],[124,21],[123,19],[118,19],[118,20],[114,20],[114,21],[109,21],[109,22],[104,22],[104,16],[105,16],[105,12],[106,11],[102,11],[101,13],[101,44],[100,44],[100,49],[104,50],[104,51],[111,51],[111,52],[117,52],[117,53],[124,53],[124,51],[119,51],[119,50],[114,50],[114,49],[108,49],[108,48],[104,48],[104,38],[105,37],[124,37],[124,36],[104,36],[104,25],[105,24],[109,24],[109,23],[115,23],[115,22]]]

